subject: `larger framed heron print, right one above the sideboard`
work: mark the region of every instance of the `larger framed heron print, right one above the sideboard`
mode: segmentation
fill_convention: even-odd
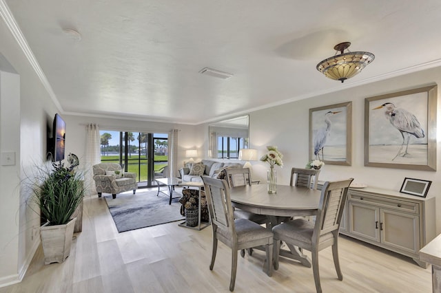
[[[436,171],[437,87],[365,99],[365,166]]]

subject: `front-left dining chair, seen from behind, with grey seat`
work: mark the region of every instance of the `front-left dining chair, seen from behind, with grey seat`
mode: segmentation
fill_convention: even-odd
[[[218,240],[232,249],[232,274],[229,290],[236,283],[238,250],[265,246],[266,261],[263,270],[272,275],[273,233],[248,219],[234,219],[233,206],[227,181],[203,176],[205,196],[212,221],[213,250],[209,269],[213,270]]]

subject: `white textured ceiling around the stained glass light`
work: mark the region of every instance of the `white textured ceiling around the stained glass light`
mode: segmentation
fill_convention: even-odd
[[[441,65],[440,0],[3,1],[68,114],[198,124]],[[342,41],[376,56],[343,84]]]

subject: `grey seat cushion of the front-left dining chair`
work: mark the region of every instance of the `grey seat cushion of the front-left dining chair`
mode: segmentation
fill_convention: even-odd
[[[273,233],[270,230],[267,230],[262,226],[254,223],[254,221],[249,221],[247,219],[234,220],[234,226],[236,228],[238,243],[273,236]],[[225,229],[221,229],[220,227],[218,227],[218,233],[220,235],[223,235],[223,237],[229,237],[228,231]]]

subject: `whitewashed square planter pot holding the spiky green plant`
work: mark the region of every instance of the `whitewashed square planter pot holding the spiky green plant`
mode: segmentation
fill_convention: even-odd
[[[44,263],[62,263],[70,254],[70,246],[74,235],[76,218],[68,224],[40,227],[40,237],[43,243]]]

